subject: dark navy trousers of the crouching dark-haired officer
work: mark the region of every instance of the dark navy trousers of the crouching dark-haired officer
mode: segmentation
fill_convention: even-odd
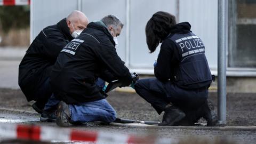
[[[140,97],[151,103],[158,114],[162,113],[168,103],[172,103],[183,110],[186,119],[190,119],[192,123],[202,117],[196,114],[196,111],[208,97],[206,87],[198,90],[184,90],[172,82],[163,83],[156,78],[140,79],[134,88]]]

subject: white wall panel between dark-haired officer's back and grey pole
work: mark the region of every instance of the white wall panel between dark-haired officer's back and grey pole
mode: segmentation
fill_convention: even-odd
[[[191,30],[205,44],[205,54],[211,70],[217,69],[218,1],[180,0],[179,20],[188,21]]]

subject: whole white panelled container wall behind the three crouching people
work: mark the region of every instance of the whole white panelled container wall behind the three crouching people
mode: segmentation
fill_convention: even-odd
[[[124,28],[118,37],[117,53],[131,71],[154,74],[156,52],[149,54],[145,26],[157,11],[170,12],[178,22],[188,21],[191,30],[201,37],[206,46],[206,57],[213,74],[217,71],[217,0],[32,0],[31,41],[46,26],[54,25],[73,10],[81,10],[90,21],[108,14],[116,15]]]

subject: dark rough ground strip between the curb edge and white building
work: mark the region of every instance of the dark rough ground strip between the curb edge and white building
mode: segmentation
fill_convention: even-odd
[[[34,111],[31,103],[19,89],[0,89],[0,107]],[[211,99],[217,109],[217,93],[210,92]],[[136,93],[110,92],[107,98],[111,106],[117,111],[117,116],[141,121],[162,121],[149,103]],[[255,93],[227,94],[227,126],[256,126]],[[204,119],[199,122],[206,123]]]

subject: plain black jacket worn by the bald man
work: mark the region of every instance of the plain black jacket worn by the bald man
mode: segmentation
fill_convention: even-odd
[[[65,18],[44,28],[31,43],[19,65],[19,86],[28,101],[35,100],[60,51],[72,39]]]

